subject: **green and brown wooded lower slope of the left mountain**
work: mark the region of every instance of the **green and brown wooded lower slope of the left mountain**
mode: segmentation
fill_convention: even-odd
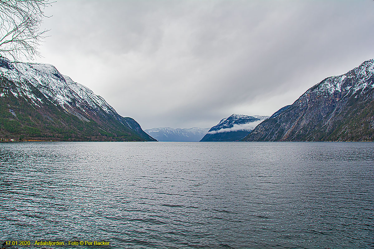
[[[37,106],[28,97],[15,97],[16,85],[0,77],[0,138],[15,140],[56,140],[56,141],[145,141],[130,128],[112,116],[102,113],[78,115],[54,105],[35,87],[29,84],[36,97],[43,104]],[[13,110],[12,112],[9,110]],[[87,117],[88,121],[78,116]]]

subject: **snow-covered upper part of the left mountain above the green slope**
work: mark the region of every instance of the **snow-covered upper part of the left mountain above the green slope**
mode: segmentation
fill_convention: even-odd
[[[16,97],[25,95],[37,106],[42,103],[31,93],[27,84],[29,83],[42,92],[52,103],[61,106],[66,111],[74,106],[84,111],[85,106],[90,106],[97,111],[102,109],[111,116],[117,115],[117,112],[102,97],[94,94],[85,85],[76,83],[70,77],[62,75],[51,64],[24,62],[13,64],[6,58],[0,57],[1,75],[16,83],[20,88],[19,93],[12,93]]]

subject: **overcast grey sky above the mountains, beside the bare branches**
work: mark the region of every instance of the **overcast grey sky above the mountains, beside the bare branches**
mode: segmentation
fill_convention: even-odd
[[[143,129],[272,115],[374,58],[374,1],[57,0],[37,62]]]

